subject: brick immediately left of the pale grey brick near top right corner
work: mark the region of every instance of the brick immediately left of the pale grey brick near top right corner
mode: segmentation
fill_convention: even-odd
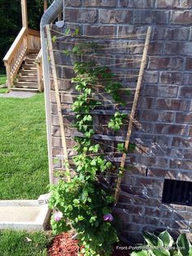
[[[169,11],[135,11],[134,24],[168,24]]]

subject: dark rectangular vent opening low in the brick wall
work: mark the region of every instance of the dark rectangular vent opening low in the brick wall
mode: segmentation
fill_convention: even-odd
[[[192,182],[164,179],[162,203],[192,205]]]

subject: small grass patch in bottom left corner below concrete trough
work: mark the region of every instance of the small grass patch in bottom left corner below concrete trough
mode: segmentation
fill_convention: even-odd
[[[27,241],[27,237],[31,241]],[[2,231],[0,232],[0,255],[46,256],[50,236],[46,232]]]

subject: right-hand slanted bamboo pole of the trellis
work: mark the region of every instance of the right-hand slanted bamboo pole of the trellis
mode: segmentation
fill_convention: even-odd
[[[128,131],[127,131],[127,135],[126,135],[126,139],[125,139],[125,143],[124,143],[124,148],[126,150],[128,150],[128,148],[129,148],[129,141],[130,141],[131,131],[132,131],[132,127],[133,127],[133,120],[134,120],[134,116],[135,116],[135,112],[136,112],[136,108],[137,108],[138,96],[139,96],[139,92],[140,92],[140,89],[142,86],[142,77],[143,77],[143,74],[144,74],[144,71],[146,68],[146,60],[147,60],[146,58],[147,58],[147,52],[148,52],[149,44],[150,44],[150,40],[151,40],[151,31],[152,31],[152,27],[150,26],[150,27],[148,27],[147,33],[146,33],[146,42],[145,42],[145,46],[144,46],[144,50],[143,50],[143,54],[142,54],[142,64],[141,64],[139,75],[138,75],[137,86],[136,86],[136,91],[135,91],[134,100],[133,100],[133,107],[132,107],[131,114],[129,116],[129,126],[128,126]],[[117,183],[116,183],[116,192],[115,192],[116,203],[120,196],[120,183],[121,183],[122,176],[124,174],[124,164],[126,161],[126,157],[127,157],[127,154],[123,153],[123,156],[120,161],[121,174],[119,175],[119,177],[117,179]]]

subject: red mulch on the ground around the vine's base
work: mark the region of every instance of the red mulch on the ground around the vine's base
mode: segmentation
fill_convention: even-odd
[[[72,240],[72,235],[69,233],[62,233],[55,236],[48,249],[48,256],[76,256],[79,251],[77,240]],[[114,252],[111,256],[129,256],[127,245],[114,245]]]

